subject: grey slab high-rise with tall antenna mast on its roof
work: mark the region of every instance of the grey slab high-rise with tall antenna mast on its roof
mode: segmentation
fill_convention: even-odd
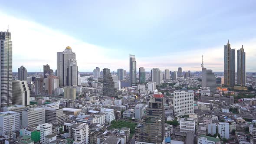
[[[213,95],[217,91],[216,76],[211,69],[203,67],[202,55],[202,87],[210,87],[210,94]]]

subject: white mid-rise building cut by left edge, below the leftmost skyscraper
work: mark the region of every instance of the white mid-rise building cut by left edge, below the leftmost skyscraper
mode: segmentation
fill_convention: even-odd
[[[11,133],[20,130],[20,113],[6,111],[0,113],[0,135],[11,137]]]

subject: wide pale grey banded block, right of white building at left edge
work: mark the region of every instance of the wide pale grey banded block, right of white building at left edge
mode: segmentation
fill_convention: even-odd
[[[38,124],[45,123],[44,108],[28,108],[22,111],[21,125],[22,128],[33,128]]]

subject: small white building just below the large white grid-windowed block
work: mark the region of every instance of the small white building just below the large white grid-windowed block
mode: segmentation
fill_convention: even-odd
[[[180,120],[181,132],[194,133],[195,129],[196,129],[196,122],[195,122],[194,118],[181,118],[181,120]]]

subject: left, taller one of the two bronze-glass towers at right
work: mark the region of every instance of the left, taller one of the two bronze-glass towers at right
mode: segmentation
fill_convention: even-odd
[[[236,82],[236,51],[231,49],[230,40],[224,45],[224,85],[233,87]]]

